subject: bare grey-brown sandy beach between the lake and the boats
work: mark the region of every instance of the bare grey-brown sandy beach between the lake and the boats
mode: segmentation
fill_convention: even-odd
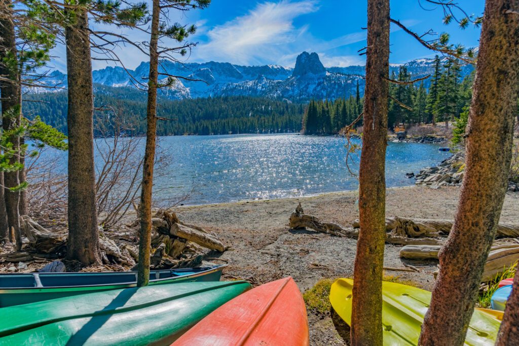
[[[387,190],[387,216],[453,219],[460,188],[402,187]],[[356,191],[324,193],[318,196],[181,206],[175,209],[185,222],[217,233],[229,250],[221,255],[228,262],[227,278],[248,278],[256,282],[292,276],[302,292],[323,278],[353,274],[356,240],[331,237],[313,231],[290,230],[292,211],[301,202],[306,214],[326,222],[350,225],[358,218]],[[519,193],[508,193],[501,222],[519,221]],[[404,268],[401,246],[386,244],[384,265]],[[387,272],[400,275],[425,289],[433,285],[438,261],[413,261],[416,272]],[[308,312],[312,345],[344,345],[344,339],[327,315]]]

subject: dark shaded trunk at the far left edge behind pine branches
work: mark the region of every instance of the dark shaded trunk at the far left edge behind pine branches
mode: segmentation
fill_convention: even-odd
[[[3,0],[3,3],[10,2]],[[8,5],[7,5],[8,6]],[[4,7],[4,6],[2,6]],[[13,22],[8,18],[0,19],[0,37],[3,38],[0,47],[0,60],[8,56],[17,56],[16,33]],[[3,130],[11,130],[19,126],[21,117],[21,87],[20,72],[12,71],[12,68],[0,64],[0,75],[7,76],[10,81],[2,81],[0,90],[2,92],[2,127]],[[12,143],[12,149],[19,152],[20,137],[13,135],[9,141]],[[9,159],[10,164],[17,163],[19,155],[15,155]],[[4,198],[9,229],[15,229],[16,249],[20,251],[22,240],[20,234],[20,219],[18,212],[18,203],[20,192],[13,192],[9,188],[20,185],[18,180],[18,171],[4,172]],[[0,212],[1,214],[2,212]]]

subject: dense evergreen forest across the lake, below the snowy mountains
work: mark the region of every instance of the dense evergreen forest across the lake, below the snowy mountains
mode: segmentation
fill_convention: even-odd
[[[28,118],[43,121],[67,133],[66,91],[25,95],[23,109]],[[35,101],[35,102],[34,102]],[[131,87],[97,86],[94,98],[95,136],[124,131],[146,133],[146,93]],[[158,135],[283,133],[299,132],[304,104],[249,96],[169,100],[159,98]]]

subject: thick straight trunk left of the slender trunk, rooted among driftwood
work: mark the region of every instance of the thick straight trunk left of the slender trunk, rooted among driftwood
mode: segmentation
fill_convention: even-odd
[[[93,153],[92,62],[88,17],[76,10],[75,22],[65,28],[69,89],[69,241],[67,258],[83,265],[100,263],[95,207]]]

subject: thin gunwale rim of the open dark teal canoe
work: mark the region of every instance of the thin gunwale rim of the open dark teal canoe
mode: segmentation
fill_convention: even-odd
[[[185,278],[197,278],[198,276],[203,276],[207,274],[211,274],[217,271],[222,271],[225,267],[227,267],[227,264],[223,265],[217,265],[212,267],[207,267],[208,269],[199,271],[197,273],[188,273],[184,275],[178,275],[178,276],[169,276],[168,278],[162,278],[162,279],[153,279],[149,280],[150,284],[157,284],[161,282],[166,281],[176,281],[181,280]],[[182,270],[182,269],[180,269]],[[169,269],[169,270],[157,270],[153,272],[172,272],[175,271],[175,269]],[[100,272],[98,274],[128,274],[128,273],[135,273],[136,271],[109,271],[109,272]],[[66,275],[71,274],[71,272],[63,272],[63,273],[26,273],[26,274],[38,274],[41,278],[42,275]],[[79,274],[73,273],[73,274]],[[90,274],[90,273],[88,273]],[[12,274],[0,274],[0,275],[12,275]],[[135,276],[136,278],[136,276]],[[9,293],[21,293],[25,292],[26,290],[42,290],[42,289],[59,289],[59,288],[92,288],[92,287],[115,287],[115,288],[129,288],[129,287],[135,287],[136,286],[136,280],[135,281],[128,281],[128,282],[118,282],[118,283],[106,283],[106,284],[93,284],[93,285],[75,285],[75,286],[40,286],[40,287],[2,287],[0,288],[0,294],[9,294]]]

